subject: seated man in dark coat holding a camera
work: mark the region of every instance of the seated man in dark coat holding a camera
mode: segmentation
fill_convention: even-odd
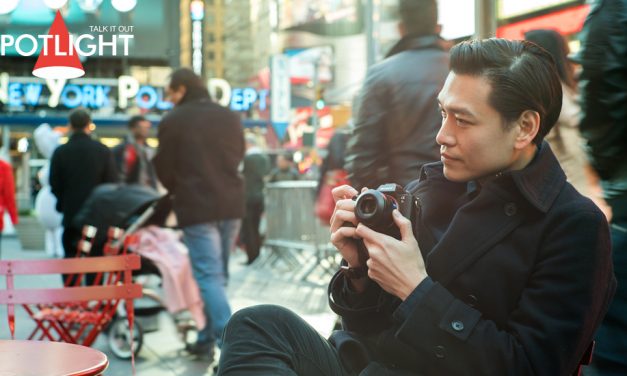
[[[389,218],[400,240],[358,223],[354,188],[334,190],[331,241],[347,269],[329,293],[346,331],[327,342],[285,309],[239,311],[220,374],[577,369],[615,280],[604,215],[543,141],[561,108],[553,61],[532,43],[487,39],[453,47],[450,69],[438,96],[441,162],[408,187],[414,223],[398,210]]]

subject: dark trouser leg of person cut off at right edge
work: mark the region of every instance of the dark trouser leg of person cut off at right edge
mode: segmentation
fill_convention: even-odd
[[[585,371],[586,375],[627,375],[627,219],[613,220],[611,232],[618,286],[597,331],[592,366]]]

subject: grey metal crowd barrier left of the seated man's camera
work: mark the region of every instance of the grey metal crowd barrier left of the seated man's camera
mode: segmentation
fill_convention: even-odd
[[[329,227],[314,215],[315,181],[284,181],[266,186],[266,237],[261,267],[280,269],[290,279],[328,283],[338,269]]]

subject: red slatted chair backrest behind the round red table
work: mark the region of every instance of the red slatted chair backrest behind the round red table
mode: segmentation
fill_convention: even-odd
[[[132,270],[140,267],[135,254],[52,260],[0,261],[0,275],[6,276],[6,290],[0,290],[0,304],[8,308],[11,337],[15,332],[15,304],[58,304],[104,300],[131,300],[142,295],[141,285],[132,281]],[[14,276],[40,274],[122,273],[104,286],[15,289]],[[132,307],[132,304],[131,304]]]

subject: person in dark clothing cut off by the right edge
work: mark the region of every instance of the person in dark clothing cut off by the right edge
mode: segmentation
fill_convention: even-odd
[[[578,55],[580,130],[609,204],[618,289],[596,336],[593,370],[627,374],[627,0],[593,3]],[[591,373],[595,374],[595,373]]]

